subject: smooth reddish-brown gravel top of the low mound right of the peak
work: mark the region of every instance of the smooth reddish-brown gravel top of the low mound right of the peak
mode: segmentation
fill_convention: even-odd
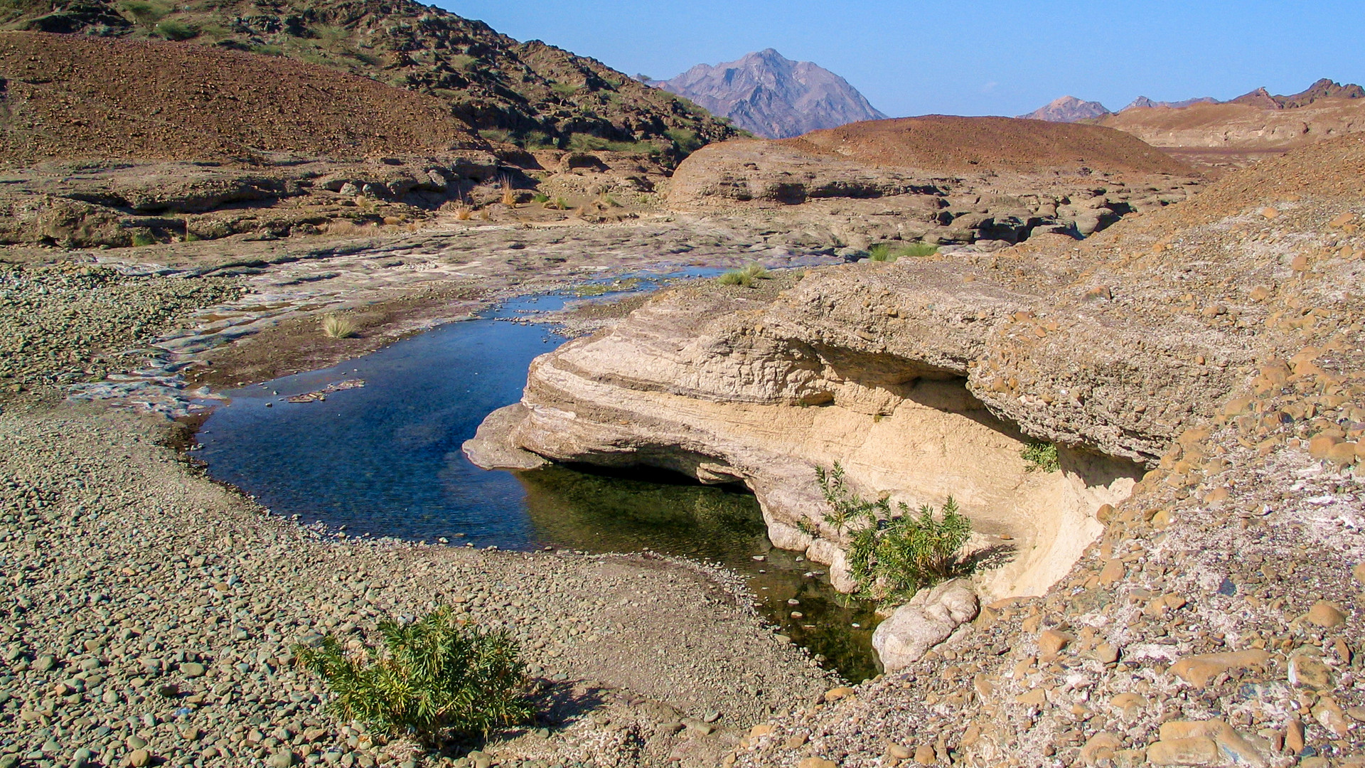
[[[1100,126],[928,115],[871,120],[785,139],[807,152],[942,171],[1048,169],[1190,175],[1185,164]]]

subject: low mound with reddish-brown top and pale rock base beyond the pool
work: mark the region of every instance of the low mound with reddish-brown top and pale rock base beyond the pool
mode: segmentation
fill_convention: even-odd
[[[729,141],[674,172],[669,205],[744,212],[824,242],[1009,245],[1085,236],[1185,200],[1193,171],[1095,126],[1006,118],[908,118],[782,142]]]

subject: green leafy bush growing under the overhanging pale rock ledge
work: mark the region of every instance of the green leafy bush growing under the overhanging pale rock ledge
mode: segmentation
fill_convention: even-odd
[[[972,573],[975,563],[961,553],[972,521],[951,496],[938,517],[928,504],[916,517],[904,502],[893,515],[885,496],[867,502],[849,491],[838,463],[830,471],[818,467],[816,478],[830,504],[824,522],[853,534],[848,564],[860,597],[902,603],[925,586]]]

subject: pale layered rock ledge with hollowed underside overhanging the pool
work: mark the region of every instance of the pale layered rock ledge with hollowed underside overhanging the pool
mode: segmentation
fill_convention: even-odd
[[[1099,536],[1096,511],[1125,499],[1185,422],[1211,415],[1246,353],[1198,324],[1155,333],[1065,262],[1032,264],[1025,283],[991,279],[1006,261],[826,268],[775,298],[714,283],[666,292],[538,358],[523,402],[467,452],[486,466],[534,463],[506,461],[520,448],[741,481],[773,543],[829,563],[846,590],[815,476],[839,462],[868,496],[954,496],[980,544],[1013,549],[983,593],[1040,594]],[[1061,445],[1061,471],[1029,471],[1031,439]]]

